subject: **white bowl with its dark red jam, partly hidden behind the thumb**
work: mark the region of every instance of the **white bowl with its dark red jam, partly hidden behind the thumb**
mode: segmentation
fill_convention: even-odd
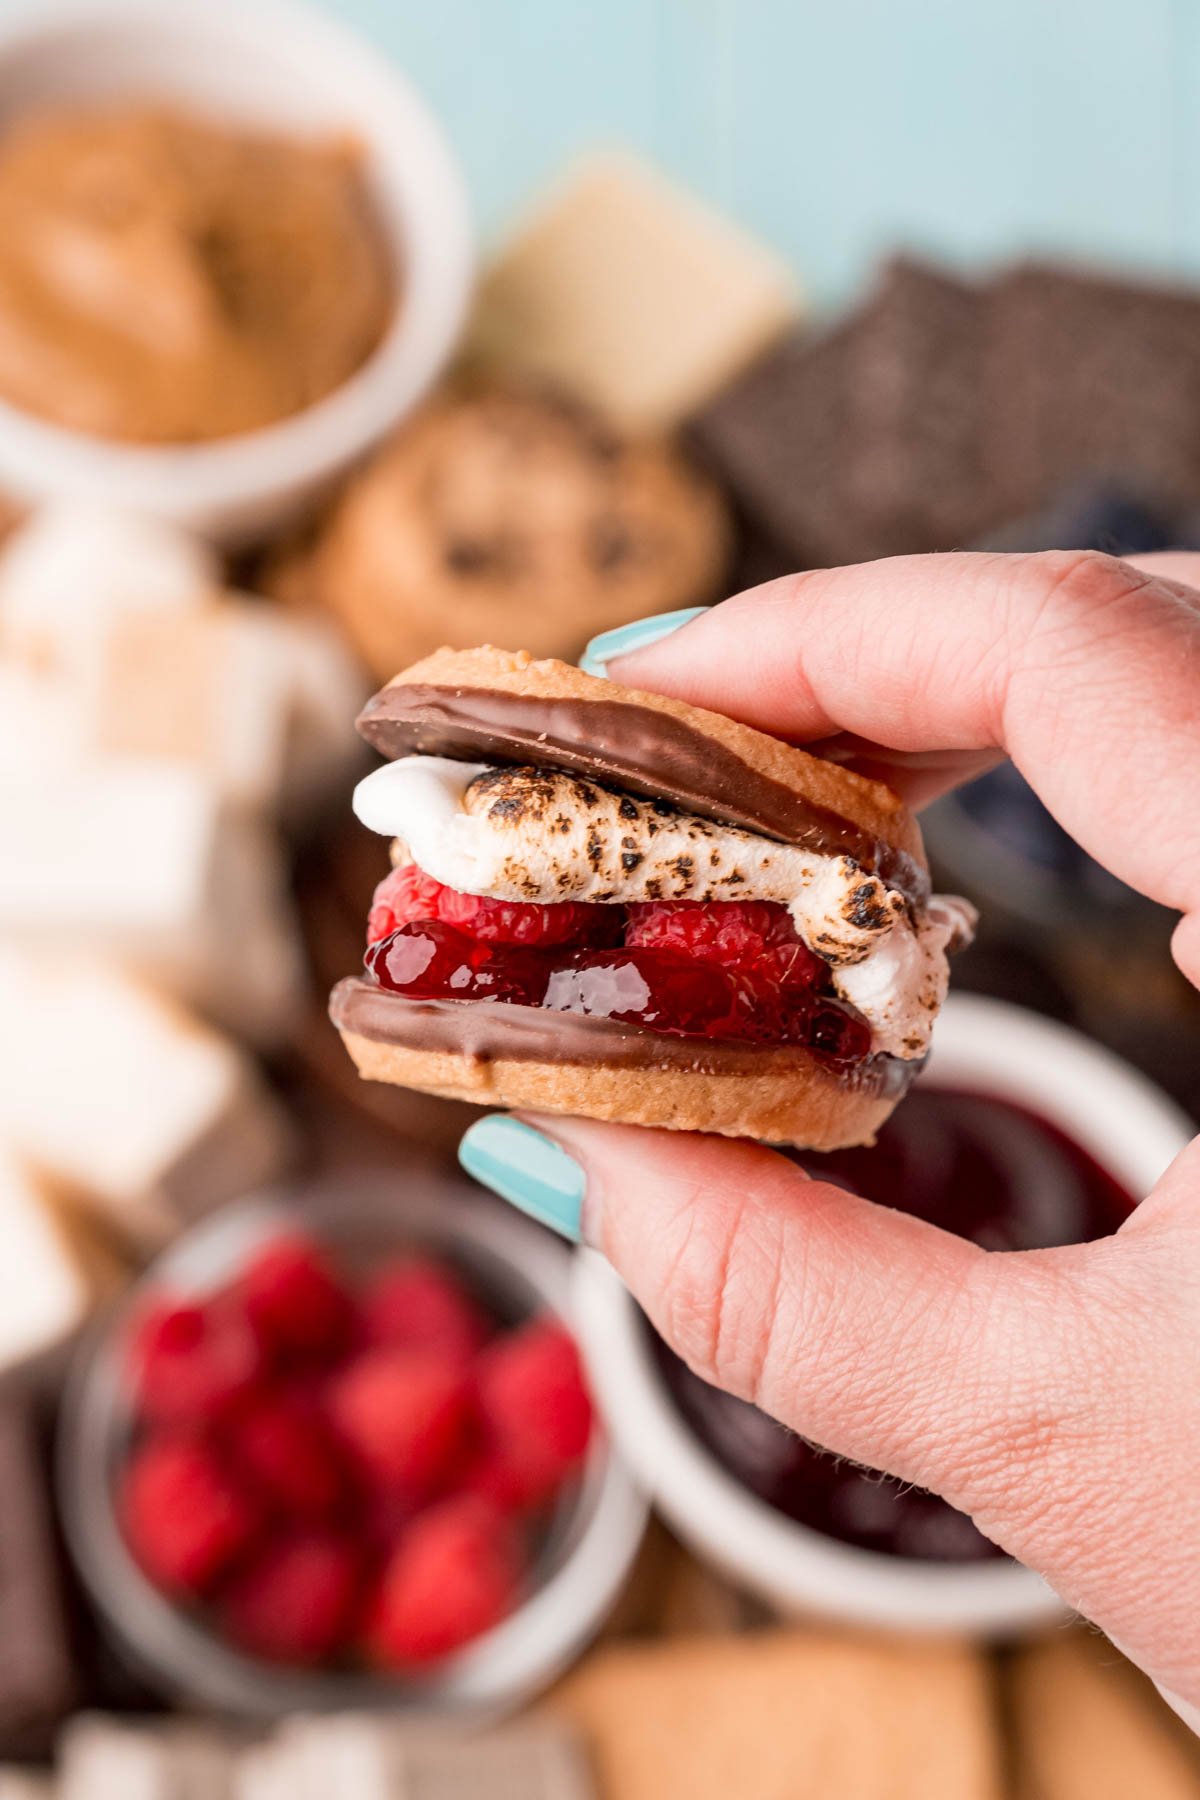
[[[1036,1013],[948,1001],[930,1067],[871,1148],[788,1152],[813,1175],[990,1251],[1117,1231],[1189,1121],[1108,1051]],[[1006,1636],[1061,1611],[936,1494],[858,1469],[700,1381],[594,1255],[576,1269],[594,1391],[696,1550],[783,1611]]]

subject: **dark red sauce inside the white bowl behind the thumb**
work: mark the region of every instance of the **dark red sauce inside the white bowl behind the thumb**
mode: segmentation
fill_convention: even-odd
[[[1112,1235],[1133,1199],[1087,1150],[1007,1100],[919,1085],[871,1150],[795,1152],[822,1181],[981,1244],[1052,1249]],[[649,1327],[646,1327],[649,1330]],[[759,1499],[828,1537],[934,1562],[999,1557],[963,1512],[804,1444],[711,1388],[653,1337],[682,1415]]]

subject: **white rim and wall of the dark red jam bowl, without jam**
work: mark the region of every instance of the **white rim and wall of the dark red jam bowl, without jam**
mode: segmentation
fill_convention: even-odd
[[[1132,1193],[1146,1193],[1191,1136],[1135,1069],[1036,1013],[952,995],[932,1080],[1027,1105]],[[633,1300],[594,1253],[578,1258],[574,1321],[592,1388],[635,1476],[693,1548],[784,1613],[907,1633],[1018,1636],[1063,1615],[1016,1562],[918,1562],[837,1543],[757,1499],[676,1411]]]

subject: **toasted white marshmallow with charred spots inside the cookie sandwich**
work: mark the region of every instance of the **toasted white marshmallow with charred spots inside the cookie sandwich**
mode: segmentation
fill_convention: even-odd
[[[853,857],[820,855],[635,799],[554,769],[407,756],[358,783],[354,812],[426,875],[493,900],[775,900],[829,963],[873,1049],[923,1057],[946,997],[946,952],[975,909],[910,902]]]

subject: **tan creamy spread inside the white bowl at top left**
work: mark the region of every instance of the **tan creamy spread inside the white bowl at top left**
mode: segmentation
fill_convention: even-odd
[[[392,270],[349,142],[155,106],[0,139],[0,396],[103,437],[282,419],[380,342]]]

